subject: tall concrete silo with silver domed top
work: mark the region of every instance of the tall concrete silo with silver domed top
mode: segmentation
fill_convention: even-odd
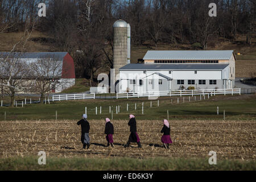
[[[115,78],[119,73],[119,68],[127,64],[127,23],[124,20],[117,20],[114,25],[114,55],[113,55],[113,64],[115,69]],[[119,79],[115,79],[115,82]]]

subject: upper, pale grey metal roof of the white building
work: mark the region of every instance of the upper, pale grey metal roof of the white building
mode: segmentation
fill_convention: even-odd
[[[234,51],[147,51],[143,60],[230,60]],[[236,58],[235,58],[236,59]]]

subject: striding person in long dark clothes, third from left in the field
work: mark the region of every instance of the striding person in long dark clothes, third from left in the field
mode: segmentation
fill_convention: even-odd
[[[137,134],[137,125],[136,125],[136,119],[133,114],[129,115],[129,123],[128,125],[130,126],[130,136],[127,144],[125,144],[125,148],[130,146],[131,142],[136,142],[138,144],[138,148],[141,148],[141,142],[139,139],[139,135]]]

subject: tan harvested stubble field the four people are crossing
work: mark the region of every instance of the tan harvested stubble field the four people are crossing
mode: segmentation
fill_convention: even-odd
[[[91,158],[133,157],[207,158],[216,151],[218,159],[255,159],[256,123],[248,121],[174,120],[170,122],[173,144],[162,147],[161,121],[137,121],[142,148],[123,148],[129,137],[128,121],[113,121],[114,148],[105,147],[105,122],[89,121],[91,146],[82,150],[76,121],[1,121],[0,158],[37,156],[41,150],[51,156]]]

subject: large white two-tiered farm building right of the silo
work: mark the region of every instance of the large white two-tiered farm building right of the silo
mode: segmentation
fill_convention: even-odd
[[[147,51],[119,68],[119,92],[234,88],[234,51]]]

